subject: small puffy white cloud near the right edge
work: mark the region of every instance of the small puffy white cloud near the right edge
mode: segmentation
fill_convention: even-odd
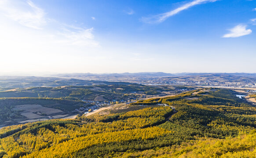
[[[235,38],[235,37],[240,37],[240,36],[245,36],[249,35],[252,33],[251,29],[246,29],[247,25],[237,25],[232,29],[229,29],[229,33],[225,34],[222,36],[223,38]]]

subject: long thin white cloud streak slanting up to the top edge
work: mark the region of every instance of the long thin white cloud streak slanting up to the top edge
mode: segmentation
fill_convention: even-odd
[[[175,15],[175,14],[178,14],[180,11],[184,11],[190,7],[194,7],[195,5],[198,5],[198,4],[203,4],[203,3],[208,3],[208,2],[215,2],[217,0],[193,0],[189,3],[186,3],[184,5],[182,5],[181,7],[178,7],[172,11],[169,11],[169,12],[166,12],[166,13],[163,13],[163,14],[158,14],[158,15],[155,15],[155,16],[151,16],[151,17],[143,17],[142,18],[142,21],[143,22],[146,22],[146,23],[159,23],[159,22],[163,22],[165,21],[167,18]]]

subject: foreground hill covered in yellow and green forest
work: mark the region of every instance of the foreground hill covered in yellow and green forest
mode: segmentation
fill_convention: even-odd
[[[254,158],[256,108],[203,89],[0,130],[0,158]]]

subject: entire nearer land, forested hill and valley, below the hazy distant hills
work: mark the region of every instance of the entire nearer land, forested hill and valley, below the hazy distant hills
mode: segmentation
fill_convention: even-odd
[[[254,141],[252,87],[79,81],[2,84],[0,157],[217,158],[256,147],[239,146]]]

